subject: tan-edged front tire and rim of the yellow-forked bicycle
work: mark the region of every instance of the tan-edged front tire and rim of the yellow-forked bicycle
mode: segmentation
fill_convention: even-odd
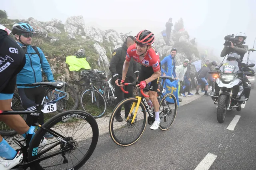
[[[140,130],[140,133],[138,136],[136,136],[136,138],[134,140],[132,140],[131,142],[128,142],[127,144],[124,144],[122,143],[120,140],[118,140],[113,132],[114,130],[114,127],[113,127],[113,123],[114,123],[114,119],[115,119],[115,116],[116,116],[116,112],[117,110],[121,109],[122,108],[122,105],[126,104],[126,103],[129,103],[129,102],[138,102],[138,99],[136,98],[127,98],[127,99],[124,99],[122,100],[118,105],[116,105],[116,107],[114,108],[111,116],[110,116],[110,121],[109,121],[109,125],[108,125],[108,130],[109,130],[109,134],[110,134],[110,137],[112,138],[112,140],[119,146],[130,146],[132,144],[134,144],[135,142],[137,142],[139,140],[139,138],[142,136],[145,128],[146,128],[146,123],[147,123],[147,119],[148,119],[148,115],[147,115],[147,112],[146,112],[146,108],[145,106],[143,105],[142,101],[140,102],[140,107],[142,107],[142,111],[143,111],[143,115],[144,115],[144,122],[143,122],[143,125],[142,125],[142,130]]]

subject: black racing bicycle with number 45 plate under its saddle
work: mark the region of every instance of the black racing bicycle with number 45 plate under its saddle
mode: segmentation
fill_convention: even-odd
[[[33,83],[46,88],[44,99],[50,91],[61,89],[65,82]],[[42,99],[42,101],[44,101]],[[42,102],[43,103],[43,102]],[[38,123],[40,114],[57,110],[56,101],[40,103],[40,111],[0,111],[0,115],[34,116],[30,130],[36,131],[35,136],[28,134],[24,140],[13,139],[23,153],[22,163],[12,169],[26,170],[76,170],[83,166],[96,148],[99,136],[95,119],[85,111],[70,110],[60,113],[41,125]],[[42,145],[41,141],[46,132],[54,136]]]

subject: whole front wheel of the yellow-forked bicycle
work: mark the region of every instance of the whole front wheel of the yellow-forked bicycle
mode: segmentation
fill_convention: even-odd
[[[120,146],[130,146],[134,144],[140,138],[146,127],[146,122],[148,118],[146,108],[143,105],[142,101],[140,102],[140,106],[138,108],[137,115],[133,124],[131,123],[131,121],[135,112],[136,105],[132,111],[132,116],[130,117],[130,119],[127,121],[124,118],[124,105],[132,106],[134,102],[137,105],[138,99],[124,99],[114,108],[112,115],[110,116],[109,133],[112,140]],[[121,117],[123,118],[122,122],[117,122],[115,120],[116,114],[119,113],[119,111],[121,112]],[[127,113],[129,113],[129,111],[130,109],[127,111]]]

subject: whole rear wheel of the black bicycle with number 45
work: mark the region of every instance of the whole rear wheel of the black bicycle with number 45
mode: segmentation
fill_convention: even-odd
[[[46,159],[31,164],[32,170],[77,170],[90,158],[98,142],[98,125],[95,119],[85,111],[72,110],[60,113],[44,123],[42,127],[58,132],[62,137],[54,136],[43,148],[38,148],[46,130],[40,128],[36,132],[28,148],[28,162],[38,158]],[[57,154],[68,148],[72,150]],[[56,154],[56,156],[47,157],[50,154]]]

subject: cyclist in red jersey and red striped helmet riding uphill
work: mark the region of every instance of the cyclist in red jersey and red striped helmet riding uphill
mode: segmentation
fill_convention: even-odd
[[[152,130],[156,130],[160,124],[159,118],[159,103],[156,97],[156,91],[158,88],[159,77],[161,75],[160,70],[160,59],[158,52],[152,47],[154,43],[154,34],[149,30],[140,31],[134,38],[135,44],[131,45],[127,49],[126,60],[123,66],[123,75],[121,85],[124,83],[126,73],[129,68],[131,57],[138,63],[141,64],[140,75],[138,81],[140,82],[140,89],[144,89],[148,83],[150,83],[149,92],[146,92],[150,97],[146,98],[149,105],[154,105],[154,111],[156,114],[155,121],[150,127]]]

